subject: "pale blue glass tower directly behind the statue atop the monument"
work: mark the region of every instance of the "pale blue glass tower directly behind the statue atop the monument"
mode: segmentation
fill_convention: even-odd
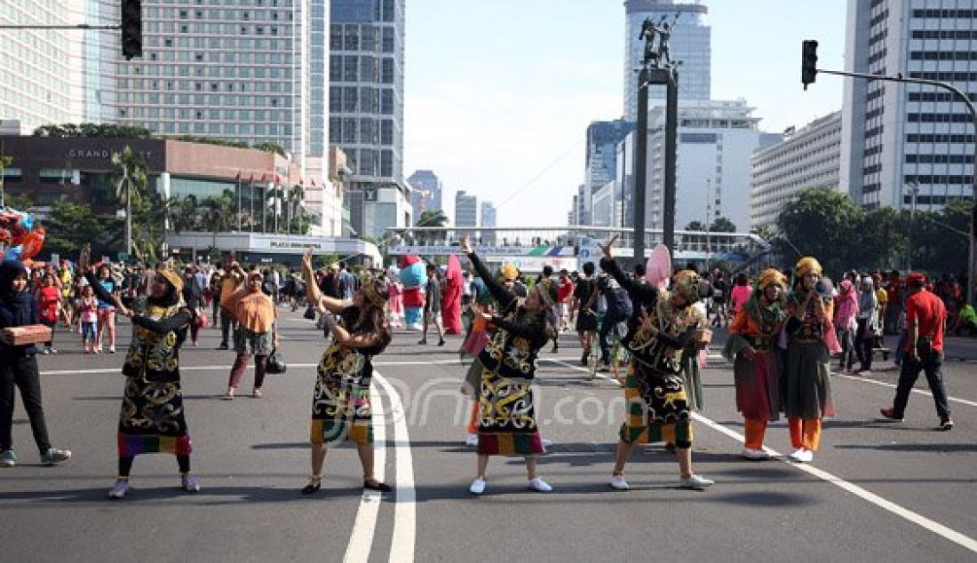
[[[638,118],[638,69],[645,52],[645,41],[638,35],[646,19],[670,28],[669,54],[672,62],[681,63],[679,100],[709,100],[712,30],[709,9],[701,0],[625,0],[624,12],[624,118]],[[655,100],[663,103],[665,89],[650,88],[648,96],[651,106]]]

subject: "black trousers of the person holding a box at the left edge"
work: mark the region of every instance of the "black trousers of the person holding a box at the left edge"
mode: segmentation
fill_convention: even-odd
[[[14,446],[11,429],[14,425],[14,386],[21,390],[23,409],[30,419],[37,449],[44,455],[51,448],[48,425],[41,407],[41,376],[37,358],[20,354],[0,357],[0,451]]]

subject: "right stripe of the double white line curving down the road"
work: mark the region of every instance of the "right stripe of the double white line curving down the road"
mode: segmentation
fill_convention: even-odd
[[[414,491],[414,462],[410,453],[410,435],[407,432],[407,416],[401,394],[387,381],[387,378],[373,371],[373,378],[380,383],[390,399],[390,419],[394,421],[394,452],[396,453],[394,504],[394,535],[390,541],[391,562],[412,562],[414,543],[417,537],[417,503]]]

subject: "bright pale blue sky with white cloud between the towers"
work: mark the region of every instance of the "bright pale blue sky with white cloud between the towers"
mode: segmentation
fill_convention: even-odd
[[[841,108],[842,82],[800,85],[800,43],[842,68],[844,0],[705,0],[712,98],[743,98],[765,131]],[[584,132],[622,112],[621,0],[407,0],[404,175],[432,169],[445,210],[466,190],[501,226],[565,225]]]

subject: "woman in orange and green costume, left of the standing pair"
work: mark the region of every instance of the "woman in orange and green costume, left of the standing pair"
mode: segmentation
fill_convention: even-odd
[[[723,356],[734,362],[736,406],[743,413],[743,457],[766,459],[767,423],[781,413],[777,340],[786,321],[786,278],[765,270],[730,325]]]

